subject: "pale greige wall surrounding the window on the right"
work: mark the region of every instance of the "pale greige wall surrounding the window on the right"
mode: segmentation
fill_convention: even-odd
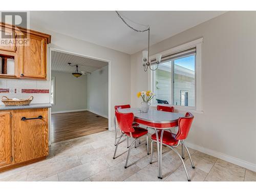
[[[187,142],[256,171],[256,12],[227,12],[151,46],[151,54],[203,37],[203,114]],[[148,88],[141,52],[131,56],[131,104]]]

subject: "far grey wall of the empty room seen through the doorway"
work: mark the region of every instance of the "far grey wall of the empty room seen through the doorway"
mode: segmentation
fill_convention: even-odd
[[[52,112],[87,109],[87,76],[78,78],[71,73],[52,71],[55,77],[55,103]]]

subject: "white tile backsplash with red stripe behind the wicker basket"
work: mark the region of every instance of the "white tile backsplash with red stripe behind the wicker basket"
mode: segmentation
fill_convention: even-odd
[[[22,94],[10,94],[9,89],[22,89]],[[19,80],[19,79],[0,79],[0,105],[4,104],[1,100],[3,96],[8,98],[28,99],[33,96],[31,103],[50,102],[50,81]]]

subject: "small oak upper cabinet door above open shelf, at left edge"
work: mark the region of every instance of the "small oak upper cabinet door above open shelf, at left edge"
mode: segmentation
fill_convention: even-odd
[[[0,28],[0,50],[16,52],[16,33],[10,29]],[[5,38],[5,35],[7,38]]]

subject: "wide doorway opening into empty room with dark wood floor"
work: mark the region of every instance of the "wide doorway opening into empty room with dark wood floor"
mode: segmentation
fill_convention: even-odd
[[[110,61],[55,49],[50,60],[51,143],[108,130]]]

